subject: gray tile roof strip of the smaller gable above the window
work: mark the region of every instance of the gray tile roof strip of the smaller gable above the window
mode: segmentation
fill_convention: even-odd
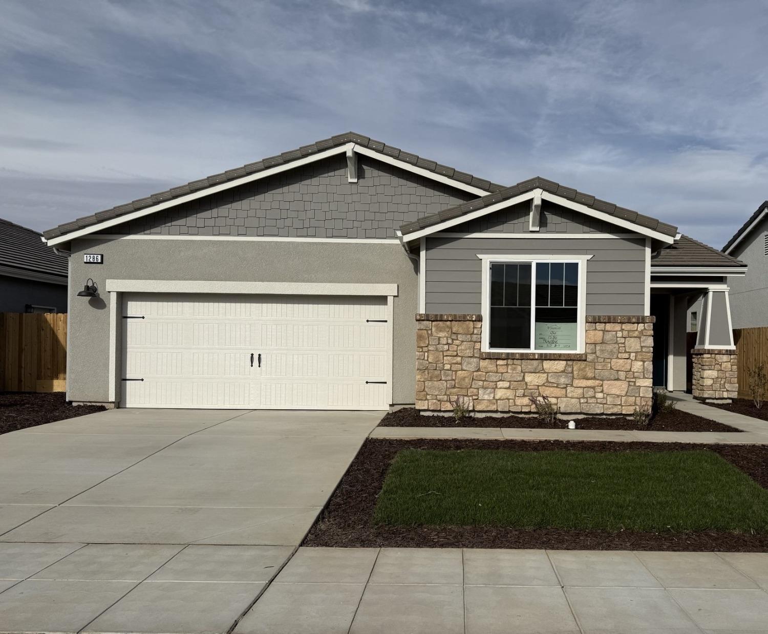
[[[564,185],[555,183],[554,181],[548,181],[546,178],[541,178],[539,176],[536,178],[530,178],[528,181],[520,181],[518,184],[512,185],[511,187],[504,188],[500,191],[495,191],[492,194],[488,194],[482,198],[476,198],[473,201],[468,201],[466,203],[457,205],[456,207],[449,207],[448,209],[439,211],[437,214],[431,214],[429,216],[419,218],[417,221],[407,222],[400,227],[400,232],[402,233],[402,236],[407,240],[408,234],[415,233],[415,231],[420,231],[445,221],[454,220],[457,217],[472,213],[473,211],[478,211],[484,207],[491,207],[492,205],[506,201],[510,198],[515,198],[516,196],[525,194],[535,189],[548,191],[551,194],[561,198],[566,198],[570,201],[584,205],[585,207],[591,207],[595,211],[601,211],[604,214],[608,214],[618,219],[637,224],[641,227],[647,227],[648,229],[657,231],[660,234],[665,234],[672,237],[677,235],[677,227],[674,227],[671,224],[661,222],[656,218],[646,216],[644,214],[638,214],[637,211],[632,211],[631,209],[617,207],[617,205],[614,203],[601,201],[598,198],[594,198],[594,196],[591,196],[590,194],[583,194],[581,191],[567,188]]]

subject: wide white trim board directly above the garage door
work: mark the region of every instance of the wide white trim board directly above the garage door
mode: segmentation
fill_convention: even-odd
[[[107,280],[109,293],[215,293],[233,295],[397,295],[397,284],[232,282],[209,280]]]

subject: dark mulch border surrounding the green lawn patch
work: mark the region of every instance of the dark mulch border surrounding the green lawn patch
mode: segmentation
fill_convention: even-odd
[[[436,548],[548,548],[579,550],[677,550],[768,552],[768,534],[721,532],[640,533],[632,531],[509,529],[498,526],[375,526],[376,496],[389,465],[406,448],[517,451],[686,451],[691,443],[609,443],[528,440],[366,440],[303,546]],[[723,459],[768,488],[768,446],[707,445]]]

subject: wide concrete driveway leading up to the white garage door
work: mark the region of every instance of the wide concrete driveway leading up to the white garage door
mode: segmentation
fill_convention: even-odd
[[[110,410],[0,436],[0,632],[226,632],[382,415]]]

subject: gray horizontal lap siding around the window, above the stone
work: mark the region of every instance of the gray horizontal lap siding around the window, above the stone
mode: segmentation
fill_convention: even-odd
[[[428,313],[479,313],[482,268],[478,254],[592,254],[587,263],[588,315],[642,315],[644,238],[427,238]]]

